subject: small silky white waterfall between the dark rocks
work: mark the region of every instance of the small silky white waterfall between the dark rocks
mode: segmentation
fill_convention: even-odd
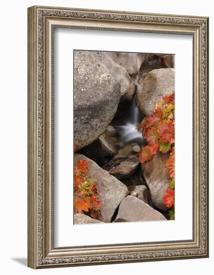
[[[140,88],[140,84],[136,83],[137,90]],[[136,92],[137,92],[136,90]],[[122,131],[122,139],[126,143],[136,139],[141,138],[143,142],[142,133],[138,132],[136,129],[137,124],[141,121],[141,114],[136,105],[136,93],[134,95],[129,114],[127,116],[127,121],[124,125],[118,126],[118,128]]]

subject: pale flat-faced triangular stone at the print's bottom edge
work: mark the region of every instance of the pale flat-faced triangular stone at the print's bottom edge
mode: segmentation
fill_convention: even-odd
[[[120,203],[114,222],[148,220],[166,220],[166,218],[139,198],[129,195]]]

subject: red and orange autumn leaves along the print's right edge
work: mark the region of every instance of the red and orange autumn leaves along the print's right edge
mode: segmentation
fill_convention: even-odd
[[[143,137],[148,143],[139,153],[141,163],[150,160],[157,150],[170,152],[165,167],[171,180],[163,201],[170,208],[170,218],[174,218],[174,91],[155,104],[153,112],[143,118],[137,129],[142,129]]]

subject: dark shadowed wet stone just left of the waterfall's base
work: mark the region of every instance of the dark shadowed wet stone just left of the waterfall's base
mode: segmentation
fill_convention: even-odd
[[[87,155],[102,166],[117,153],[117,149],[108,130],[106,130],[98,139],[82,148],[80,153]]]

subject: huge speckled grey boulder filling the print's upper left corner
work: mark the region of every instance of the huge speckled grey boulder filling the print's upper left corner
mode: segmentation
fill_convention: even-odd
[[[92,143],[111,123],[120,100],[120,83],[89,51],[74,51],[74,143]]]

